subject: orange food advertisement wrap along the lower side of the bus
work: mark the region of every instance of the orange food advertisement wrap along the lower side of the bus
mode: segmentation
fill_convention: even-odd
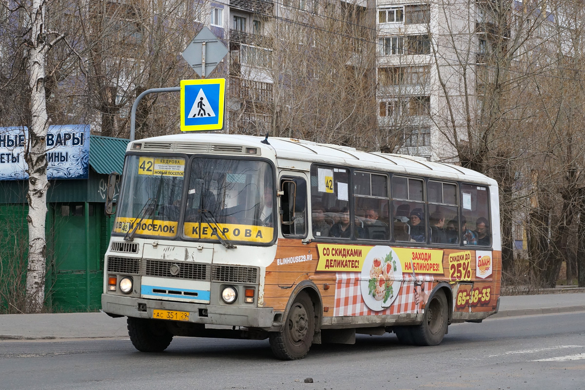
[[[422,313],[433,289],[447,282],[453,291],[453,310],[490,311],[500,291],[500,256],[499,251],[471,248],[300,246],[279,240],[275,261],[267,267],[264,302],[284,305],[283,287],[311,279],[324,288],[323,304],[329,308],[325,316]]]

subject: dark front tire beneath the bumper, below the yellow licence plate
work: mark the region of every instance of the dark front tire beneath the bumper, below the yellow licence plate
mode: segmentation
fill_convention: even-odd
[[[164,324],[145,318],[128,317],[128,334],[132,345],[141,352],[162,352],[173,340]]]

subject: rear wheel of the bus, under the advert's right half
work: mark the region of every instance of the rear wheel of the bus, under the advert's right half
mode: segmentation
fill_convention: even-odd
[[[449,322],[448,307],[445,292],[435,292],[426,303],[421,325],[412,327],[412,339],[416,345],[436,346],[443,341]]]

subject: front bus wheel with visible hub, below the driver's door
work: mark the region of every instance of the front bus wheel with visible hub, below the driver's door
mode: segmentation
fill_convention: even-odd
[[[274,356],[282,360],[302,359],[307,355],[315,333],[315,310],[306,292],[295,296],[284,329],[270,332],[270,347]]]

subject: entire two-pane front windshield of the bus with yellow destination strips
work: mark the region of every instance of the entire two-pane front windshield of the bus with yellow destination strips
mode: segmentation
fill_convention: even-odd
[[[273,176],[265,161],[128,156],[114,233],[269,243]]]

